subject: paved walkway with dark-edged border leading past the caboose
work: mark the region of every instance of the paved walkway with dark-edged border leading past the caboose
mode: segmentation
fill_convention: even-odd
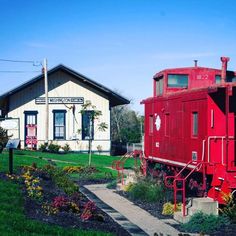
[[[126,198],[116,194],[114,190],[107,189],[105,184],[85,185],[81,190],[90,199],[93,198],[91,200],[96,202],[97,197],[102,202],[105,202],[106,205],[110,206],[112,210],[114,209],[110,212],[106,209],[103,210],[124,228],[126,228],[126,225],[126,230],[130,232],[131,235],[154,235],[156,233],[156,235],[163,236],[178,236],[180,233],[174,228],[174,225],[177,224],[176,221],[172,219],[158,219],[152,216]],[[96,197],[94,198],[93,195],[89,196],[89,192],[96,195]],[[123,216],[123,219],[119,221],[121,216]],[[173,225],[173,227],[171,225]]]

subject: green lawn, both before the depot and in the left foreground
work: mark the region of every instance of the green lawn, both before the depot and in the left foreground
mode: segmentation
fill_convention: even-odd
[[[38,167],[48,164],[48,161],[44,160],[44,158],[55,160],[59,168],[68,165],[85,166],[88,163],[87,154],[69,153],[62,155],[15,150],[14,172],[16,172],[18,167],[31,165],[33,162],[35,162]],[[96,166],[101,172],[90,177],[103,178],[105,172],[111,172],[113,176],[116,176],[116,171],[111,170],[110,167],[112,161],[118,159],[118,157],[93,155],[92,165]],[[128,160],[126,167],[132,167],[133,163],[134,160]],[[7,151],[0,154],[0,172],[8,172]],[[73,177],[78,177],[78,175],[73,175]],[[0,193],[0,235],[110,235],[95,231],[82,231],[72,228],[65,229],[27,219],[24,215],[23,196],[20,191],[20,186],[12,181],[0,181]]]

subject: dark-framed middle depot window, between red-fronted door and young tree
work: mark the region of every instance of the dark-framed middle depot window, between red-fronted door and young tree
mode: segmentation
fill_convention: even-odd
[[[66,111],[53,111],[53,139],[66,139]]]

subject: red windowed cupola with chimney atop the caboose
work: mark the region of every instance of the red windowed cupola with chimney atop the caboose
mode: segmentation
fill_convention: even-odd
[[[227,71],[229,57],[221,57],[221,61],[221,70],[199,67],[197,60],[194,60],[193,67],[166,69],[155,74],[153,77],[154,97],[235,82],[235,72]]]

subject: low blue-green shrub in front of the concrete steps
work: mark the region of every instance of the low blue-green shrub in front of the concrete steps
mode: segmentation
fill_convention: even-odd
[[[188,223],[182,224],[181,228],[190,233],[210,234],[228,224],[229,220],[226,217],[198,212],[190,218]]]

